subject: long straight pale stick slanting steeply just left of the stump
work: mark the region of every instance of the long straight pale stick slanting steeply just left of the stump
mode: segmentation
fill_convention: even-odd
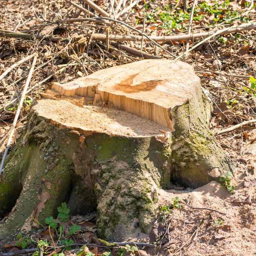
[[[31,68],[30,68],[29,73],[28,73],[27,81],[26,81],[26,84],[25,84],[25,86],[24,86],[24,89],[23,89],[21,98],[20,98],[19,106],[18,106],[16,115],[15,115],[14,120],[13,120],[12,130],[11,130],[11,133],[10,133],[9,140],[8,140],[8,142],[7,142],[7,144],[6,144],[6,148],[5,148],[5,151],[4,151],[4,156],[3,156],[2,163],[1,163],[1,166],[0,166],[0,175],[1,175],[2,170],[3,170],[3,167],[4,167],[4,160],[5,160],[6,156],[7,156],[8,150],[9,150],[9,148],[10,148],[12,136],[13,136],[13,133],[14,133],[14,131],[15,131],[15,126],[16,126],[16,124],[17,124],[17,121],[18,121],[18,118],[19,118],[19,115],[20,115],[20,110],[21,110],[21,107],[22,107],[22,104],[23,104],[23,101],[24,101],[24,98],[25,98],[25,94],[26,94],[26,91],[27,91],[27,89],[28,89],[28,85],[29,85],[29,83],[30,83],[31,76],[32,76],[32,74],[33,74],[33,71],[34,71],[34,68],[35,68],[35,65],[36,65],[36,59],[37,59],[37,56],[34,56],[34,59],[33,59],[32,65],[31,65]]]

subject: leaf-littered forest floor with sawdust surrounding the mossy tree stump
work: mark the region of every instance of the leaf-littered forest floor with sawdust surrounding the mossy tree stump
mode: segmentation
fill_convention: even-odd
[[[204,92],[212,101],[210,129],[215,133],[220,146],[237,166],[231,181],[231,185],[236,188],[234,193],[229,193],[219,183],[211,182],[193,191],[189,188],[183,189],[178,184],[176,184],[176,190],[159,190],[158,204],[162,208],[160,207],[158,220],[163,220],[163,224],[156,223],[157,227],[152,229],[149,237],[140,236],[136,241],[155,243],[157,247],[154,249],[144,247],[139,252],[133,248],[129,253],[130,255],[147,255],[148,253],[149,255],[191,256],[256,255],[256,123],[252,122],[221,133],[228,127],[256,118],[256,30],[213,36],[189,52],[188,57],[186,54],[183,55],[186,50],[185,40],[159,42],[161,48],[152,42],[143,42],[142,48],[140,48],[141,41],[122,42],[122,45],[128,48],[137,49],[136,53],[131,54],[118,45],[108,46],[106,40],[100,41],[92,35],[106,34],[108,31],[112,35],[137,35],[135,31],[116,23],[110,26],[93,21],[83,23],[63,21],[60,24],[56,21],[85,18],[88,15],[86,16],[85,11],[77,9],[68,1],[45,2],[46,4],[44,1],[34,0],[0,0],[0,74],[27,55],[38,54],[29,87],[34,86],[34,89],[26,95],[12,145],[26,126],[26,117],[32,100],[40,98],[40,93],[49,88],[52,81],[63,83],[102,68],[142,60],[140,49],[151,57],[175,59],[181,55],[180,60],[194,66]],[[83,1],[76,3],[86,10],[89,8]],[[108,1],[97,1],[97,4],[107,13],[113,13]],[[188,8],[184,11],[182,1],[138,1],[130,11],[121,14],[119,20],[140,31],[144,30],[149,36],[187,34],[192,4],[193,1],[188,2]],[[95,13],[93,9],[89,9]],[[114,18],[114,15],[111,14],[111,17]],[[255,17],[255,4],[250,1],[202,0],[196,4],[191,33],[214,29],[217,31],[230,26],[247,24],[255,22]],[[143,20],[145,20],[145,26],[143,26]],[[42,38],[4,37],[3,29],[16,33],[34,34]],[[58,42],[54,42],[56,40],[47,36],[60,38]],[[202,40],[203,38],[190,40],[189,48]],[[144,57],[146,57],[145,54]],[[12,69],[0,81],[1,159],[18,100],[12,104],[9,103],[21,94],[31,63],[32,59],[24,62],[21,66]],[[191,209],[184,204],[180,205],[179,202],[173,202],[175,197],[179,197],[182,202],[193,207],[211,208],[225,215],[215,211]],[[172,205],[172,207],[164,208],[164,205]],[[0,216],[0,222],[4,221],[5,217]],[[94,217],[85,216],[82,219],[73,217],[69,220],[66,223],[68,229],[74,224],[83,228],[74,230],[72,236],[67,236],[67,243],[72,241],[76,244],[75,248],[79,248],[78,244],[84,242],[99,245],[100,241],[95,235],[96,230],[93,224]],[[164,235],[163,230],[166,230],[167,223],[171,223],[170,232]],[[161,225],[165,226],[161,228]],[[35,236],[51,241],[50,235],[51,233],[44,228]],[[189,237],[191,240],[188,241]],[[187,244],[184,248],[187,247],[187,250],[180,250],[179,248],[186,241],[189,246]],[[0,241],[0,245],[4,246],[3,248],[8,252],[35,247],[29,236],[22,235],[18,235],[11,244],[3,245]],[[112,253],[124,255],[129,251],[127,248],[124,248],[124,253],[117,252],[116,249]],[[177,248],[179,250],[175,252]],[[90,255],[86,250],[81,255]],[[106,251],[102,250],[100,246],[90,247],[90,252],[96,255],[102,255],[102,252]],[[77,251],[66,250],[64,254],[75,256]]]

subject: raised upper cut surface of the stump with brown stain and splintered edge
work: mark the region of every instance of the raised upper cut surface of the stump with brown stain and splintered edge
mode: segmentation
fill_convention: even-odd
[[[142,60],[100,70],[67,84],[53,83],[64,96],[93,99],[173,130],[170,109],[182,105],[200,89],[193,68],[181,61]]]

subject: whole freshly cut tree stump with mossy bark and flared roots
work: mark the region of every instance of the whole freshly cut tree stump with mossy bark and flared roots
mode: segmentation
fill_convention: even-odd
[[[0,177],[3,240],[66,201],[71,214],[97,210],[98,235],[123,241],[148,232],[159,188],[196,188],[232,169],[186,63],[142,60],[53,83],[43,96]]]

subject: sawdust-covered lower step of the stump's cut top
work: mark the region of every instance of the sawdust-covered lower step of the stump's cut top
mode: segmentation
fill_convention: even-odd
[[[39,100],[31,111],[51,119],[54,123],[84,132],[100,132],[109,135],[145,137],[161,135],[166,128],[153,121],[122,110],[98,106],[78,107],[66,100]]]

